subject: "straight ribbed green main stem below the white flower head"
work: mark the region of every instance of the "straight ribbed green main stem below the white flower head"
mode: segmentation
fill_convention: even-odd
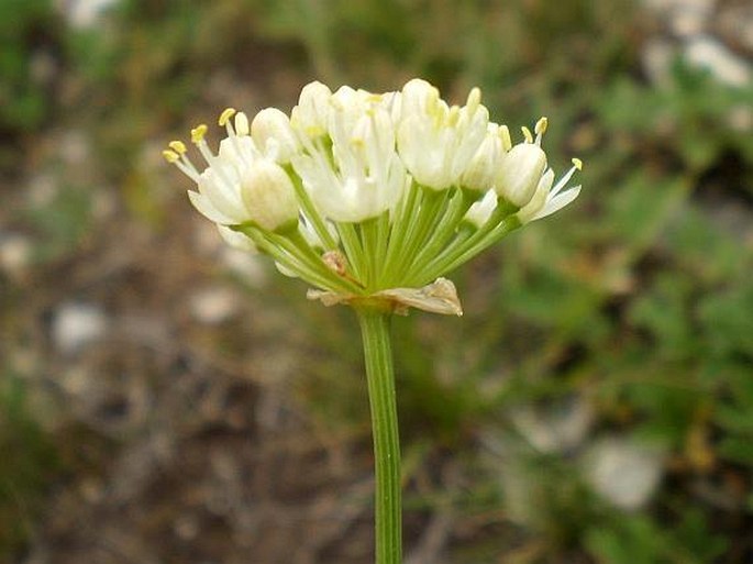
[[[395,373],[389,336],[390,314],[378,306],[356,307],[366,358],[374,434],[376,564],[400,564],[402,526],[400,442]]]

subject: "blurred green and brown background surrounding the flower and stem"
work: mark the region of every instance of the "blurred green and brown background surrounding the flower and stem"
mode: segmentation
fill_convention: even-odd
[[[413,76],[586,166],[395,322],[406,563],[753,562],[752,60],[746,0],[0,0],[0,562],[372,562],[353,316],[160,150]]]

